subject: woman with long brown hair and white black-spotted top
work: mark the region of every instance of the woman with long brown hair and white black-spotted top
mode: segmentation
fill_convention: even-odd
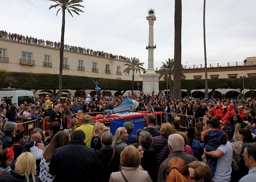
[[[53,181],[55,176],[52,176],[49,172],[49,165],[52,160],[53,153],[57,148],[68,145],[69,138],[70,137],[66,132],[59,131],[54,135],[51,143],[45,148],[40,162],[39,177],[42,181]]]

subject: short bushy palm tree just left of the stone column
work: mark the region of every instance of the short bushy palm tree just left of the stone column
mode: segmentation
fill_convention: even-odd
[[[126,61],[127,63],[124,64],[124,66],[127,66],[127,68],[125,68],[123,70],[123,72],[125,74],[130,74],[130,71],[133,71],[133,86],[132,86],[132,94],[134,94],[134,71],[136,71],[136,73],[139,71],[141,73],[141,71],[145,72],[145,69],[142,67],[144,63],[140,63],[139,58],[132,58],[132,60]]]

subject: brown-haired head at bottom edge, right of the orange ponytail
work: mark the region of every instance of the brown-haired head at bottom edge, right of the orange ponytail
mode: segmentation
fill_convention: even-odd
[[[188,164],[189,176],[192,181],[211,182],[211,171],[209,166],[201,161],[193,161]]]

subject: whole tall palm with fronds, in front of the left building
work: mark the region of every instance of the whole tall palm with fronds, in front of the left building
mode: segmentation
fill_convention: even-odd
[[[64,33],[65,33],[65,11],[67,10],[69,14],[73,17],[72,12],[79,15],[79,12],[83,11],[79,8],[84,8],[80,5],[83,0],[48,0],[56,3],[50,6],[49,10],[52,8],[59,8],[57,10],[56,16],[60,9],[62,9],[62,25],[61,25],[61,37],[60,37],[60,50],[59,50],[59,97],[61,97],[62,92],[62,66],[63,66],[63,54],[64,54]]]

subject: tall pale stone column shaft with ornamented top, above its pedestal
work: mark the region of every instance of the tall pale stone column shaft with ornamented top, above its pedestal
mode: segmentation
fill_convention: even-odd
[[[148,10],[148,16],[146,17],[149,24],[149,34],[148,34],[148,46],[146,46],[146,49],[148,50],[148,59],[147,59],[147,71],[146,73],[155,73],[154,69],[154,49],[157,48],[156,45],[154,45],[154,21],[156,21],[155,16],[155,10],[150,9]]]

